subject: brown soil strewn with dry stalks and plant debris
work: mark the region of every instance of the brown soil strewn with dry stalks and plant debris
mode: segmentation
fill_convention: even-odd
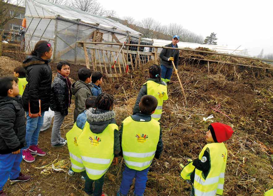
[[[139,70],[115,79],[104,79],[102,89],[115,98],[116,121],[121,122],[130,114],[141,85],[148,79],[150,61]],[[12,75],[20,62],[0,57],[1,75]],[[51,65],[54,69],[54,64]],[[77,80],[77,70],[83,66],[71,66],[71,79]],[[198,62],[183,62],[179,75],[188,106],[175,74],[168,85],[169,99],[163,104],[160,120],[163,130],[164,150],[159,160],[154,160],[148,174],[145,195],[189,195],[191,186],[180,178],[180,163],[198,157],[206,145],[205,133],[211,121],[232,126],[234,134],[225,142],[228,149],[227,168],[223,195],[263,195],[273,187],[273,80],[272,72],[240,68],[235,71],[211,65],[211,74],[206,65]],[[54,73],[55,74],[55,73]],[[237,75],[241,75],[238,77]],[[232,76],[233,75],[233,76]],[[214,109],[218,106],[218,111]],[[65,137],[73,126],[74,104],[61,127]],[[4,190],[10,195],[83,195],[84,182],[80,175],[67,175],[70,160],[67,146],[51,147],[51,127],[39,136],[39,147],[47,152],[44,157],[35,156],[32,164],[22,161],[23,173],[32,179],[25,183],[7,182]],[[57,160],[56,160],[57,159]],[[63,171],[43,174],[41,167],[54,160],[64,160]],[[124,162],[112,166],[105,177],[103,191],[116,195],[122,178]],[[133,187],[130,194],[133,195]]]

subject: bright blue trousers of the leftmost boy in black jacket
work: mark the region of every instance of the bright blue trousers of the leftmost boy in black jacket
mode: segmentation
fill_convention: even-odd
[[[22,150],[18,155],[12,153],[0,154],[0,190],[6,184],[8,177],[13,180],[19,177],[20,163],[22,161]]]

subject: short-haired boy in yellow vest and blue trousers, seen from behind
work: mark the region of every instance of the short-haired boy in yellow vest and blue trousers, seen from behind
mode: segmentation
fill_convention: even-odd
[[[160,124],[151,118],[157,104],[154,96],[143,96],[139,103],[141,113],[129,116],[122,122],[120,143],[125,168],[117,196],[128,194],[134,177],[136,178],[134,195],[143,195],[149,167],[154,157],[159,159],[162,153]]]

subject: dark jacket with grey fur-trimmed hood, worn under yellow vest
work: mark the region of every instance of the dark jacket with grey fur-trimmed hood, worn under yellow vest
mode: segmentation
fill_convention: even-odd
[[[94,110],[89,108],[85,110],[87,122],[89,123],[90,130],[94,134],[102,133],[109,124],[116,124],[115,112],[105,111],[101,109]],[[119,143],[119,130],[114,130],[114,155],[119,156],[120,143]]]

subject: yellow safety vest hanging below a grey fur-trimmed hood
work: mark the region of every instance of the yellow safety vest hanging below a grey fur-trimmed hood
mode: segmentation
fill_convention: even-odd
[[[77,140],[80,156],[86,173],[91,180],[101,178],[114,159],[114,130],[116,124],[109,124],[102,133],[95,134],[86,122],[82,134]]]

